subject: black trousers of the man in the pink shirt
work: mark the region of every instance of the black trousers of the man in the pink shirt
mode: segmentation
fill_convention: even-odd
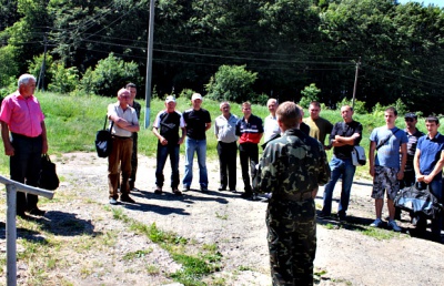
[[[11,134],[14,155],[10,157],[11,180],[30,186],[37,186],[41,171],[42,136],[27,137],[20,134]],[[17,213],[37,208],[39,197],[33,194],[17,192]]]

